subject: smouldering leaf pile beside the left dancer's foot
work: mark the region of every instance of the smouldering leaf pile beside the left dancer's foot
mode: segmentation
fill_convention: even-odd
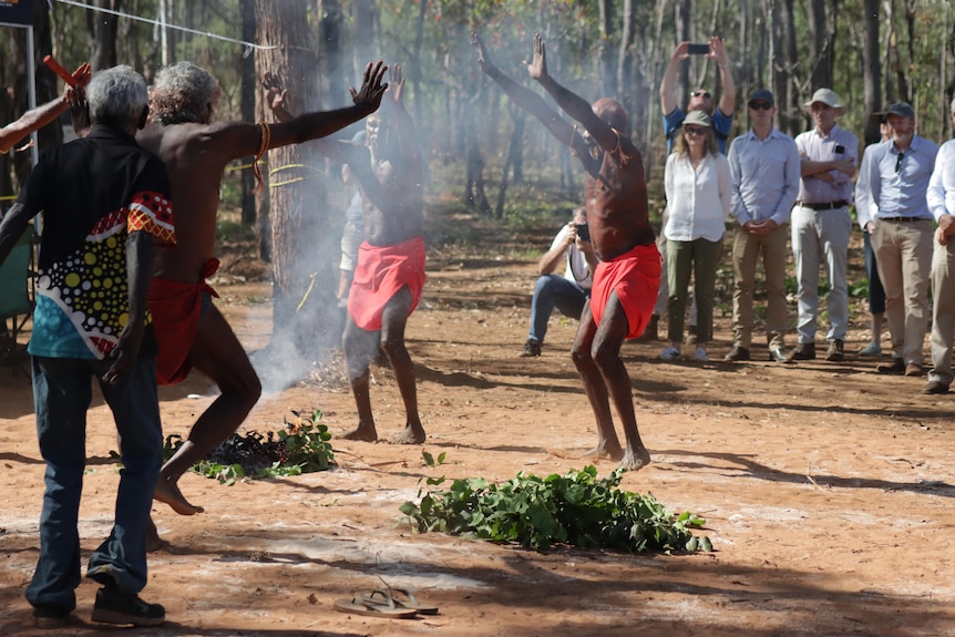
[[[251,431],[245,435],[234,433],[214,449],[193,471],[233,484],[243,477],[280,477],[327,471],[335,464],[331,434],[320,424],[321,412],[298,422],[286,422],[285,429],[263,435]],[[168,460],[183,444],[178,435],[166,438],[164,458]]]

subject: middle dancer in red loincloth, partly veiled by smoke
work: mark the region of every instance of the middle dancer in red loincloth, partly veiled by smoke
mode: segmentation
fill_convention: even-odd
[[[369,366],[379,343],[394,371],[404,402],[405,424],[393,442],[420,444],[424,428],[418,414],[414,368],[404,346],[408,318],[421,300],[424,287],[424,239],[421,236],[424,182],[428,166],[404,109],[401,69],[391,69],[388,91],[379,113],[366,120],[366,145],[320,140],[319,152],[348,164],[364,197],[364,243],[358,250],[355,280],[348,294],[345,358],[348,379],[358,407],[358,428],[348,440],[378,440],[369,394]],[[276,78],[267,79],[276,119],[291,115]]]

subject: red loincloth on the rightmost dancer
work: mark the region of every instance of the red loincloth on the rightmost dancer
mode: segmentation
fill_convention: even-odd
[[[659,290],[660,253],[656,244],[637,246],[610,261],[600,261],[591,289],[594,322],[599,327],[610,295],[617,292],[629,323],[627,338],[637,338],[654,314]]]

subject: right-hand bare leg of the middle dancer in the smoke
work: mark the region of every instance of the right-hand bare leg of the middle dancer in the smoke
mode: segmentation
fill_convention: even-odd
[[[396,444],[421,444],[424,442],[424,428],[418,414],[418,388],[414,381],[414,366],[404,347],[404,327],[411,314],[411,292],[401,288],[391,297],[381,317],[381,349],[391,362],[398,390],[404,402],[404,431],[394,439]]]

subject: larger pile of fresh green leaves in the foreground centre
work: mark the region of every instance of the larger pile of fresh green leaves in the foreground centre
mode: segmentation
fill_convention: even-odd
[[[690,532],[706,520],[689,512],[674,517],[653,494],[620,491],[623,474],[617,469],[597,479],[597,470],[585,466],[543,479],[521,472],[503,484],[455,480],[445,491],[427,493],[420,504],[405,502],[401,512],[421,533],[517,542],[542,553],[555,544],[631,553],[712,551],[709,538]],[[428,480],[430,485],[443,482]]]

